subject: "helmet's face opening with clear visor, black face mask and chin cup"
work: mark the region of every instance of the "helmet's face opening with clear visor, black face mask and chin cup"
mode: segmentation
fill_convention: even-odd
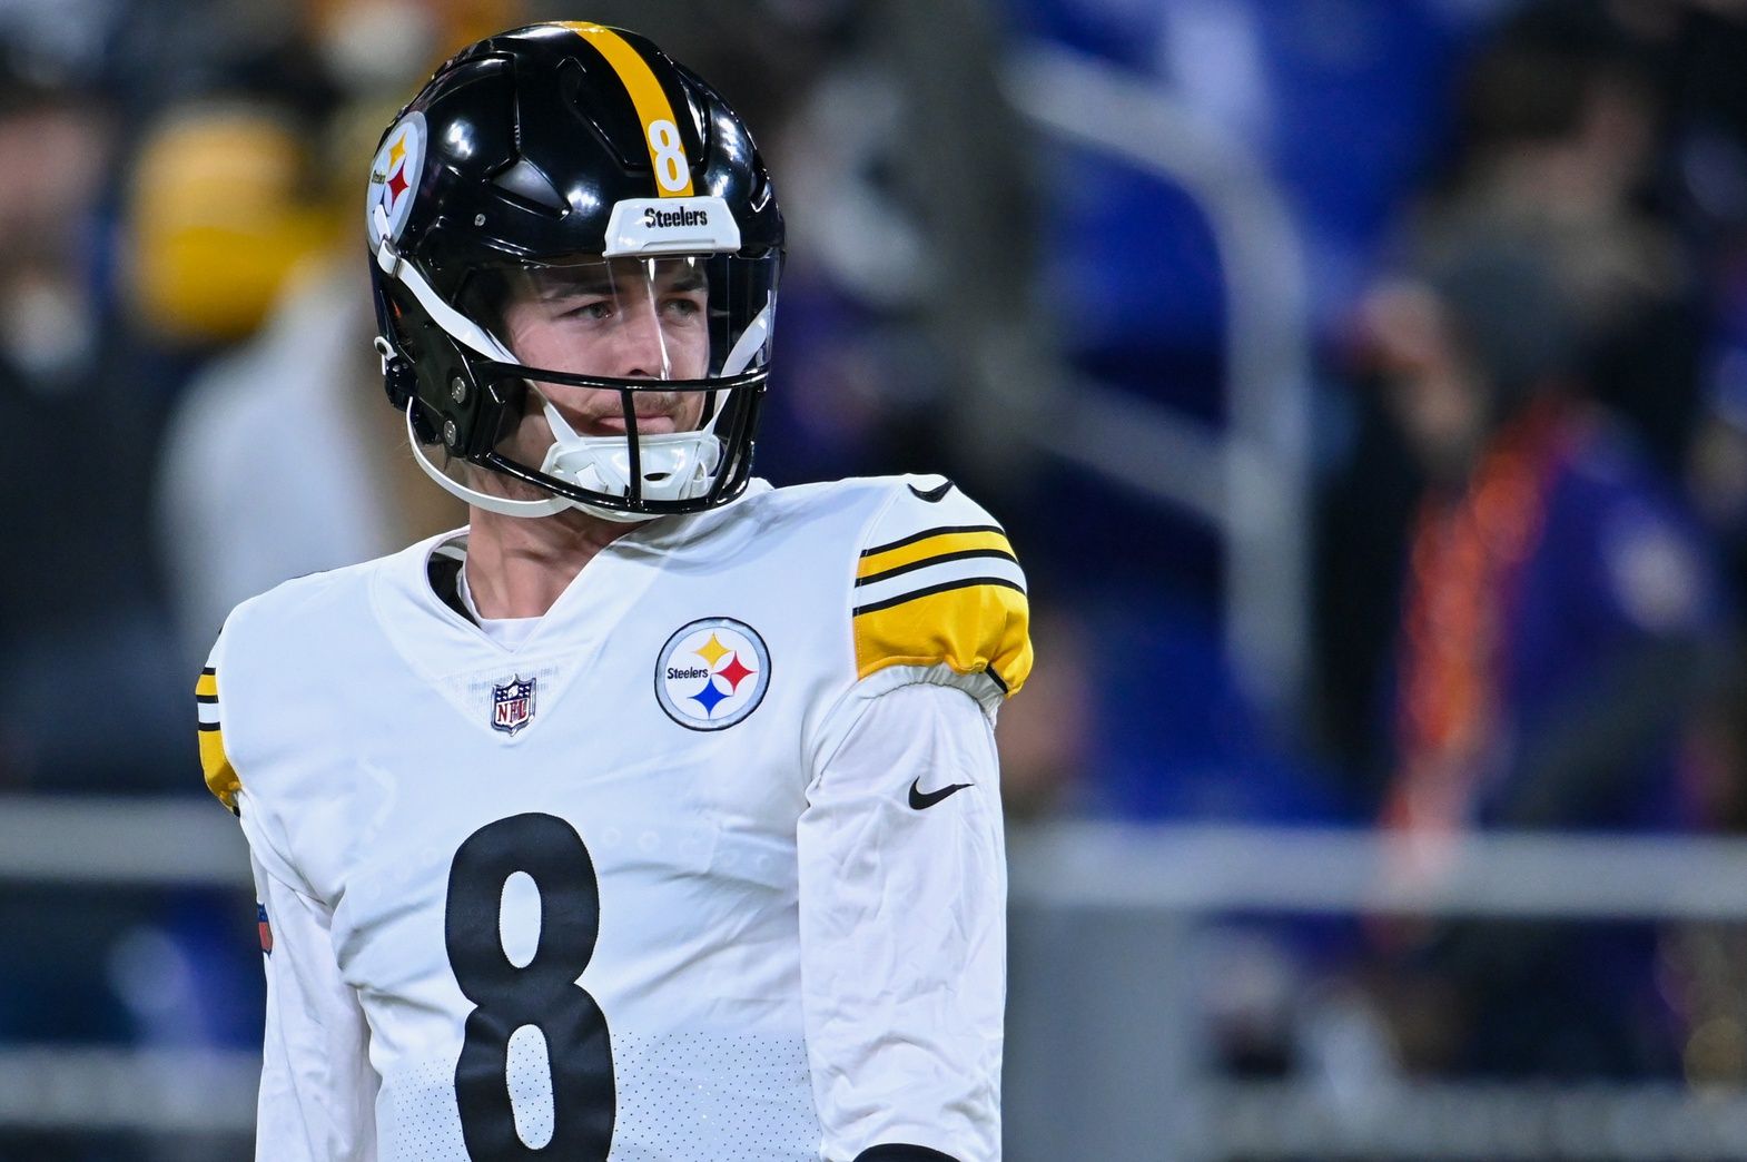
[[[512,356],[473,365],[503,404],[484,488],[615,519],[742,488],[777,262],[578,257],[479,273],[463,313]]]

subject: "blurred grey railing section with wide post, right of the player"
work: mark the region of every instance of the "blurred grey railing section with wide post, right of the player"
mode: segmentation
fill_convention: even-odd
[[[1010,1162],[1747,1159],[1747,1092],[1221,1075],[1197,961],[1240,917],[1747,921],[1747,842],[1060,823],[1015,833]]]

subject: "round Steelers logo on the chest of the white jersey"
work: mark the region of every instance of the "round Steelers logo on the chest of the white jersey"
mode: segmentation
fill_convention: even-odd
[[[655,701],[690,730],[725,730],[742,722],[769,687],[763,638],[732,617],[681,626],[655,661]]]

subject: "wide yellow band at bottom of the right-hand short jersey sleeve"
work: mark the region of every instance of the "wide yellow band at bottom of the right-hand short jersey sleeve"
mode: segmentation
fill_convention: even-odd
[[[1031,610],[1022,589],[971,578],[856,610],[856,676],[887,666],[987,673],[1008,695],[1031,674]]]

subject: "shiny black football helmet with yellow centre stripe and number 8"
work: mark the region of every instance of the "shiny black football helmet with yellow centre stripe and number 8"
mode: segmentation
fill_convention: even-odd
[[[746,126],[695,73],[597,24],[480,40],[383,135],[365,213],[388,398],[444,488],[515,515],[618,521],[746,489],[783,217]],[[550,355],[556,334],[561,358],[514,351],[529,302],[547,330],[524,349]],[[653,353],[601,355],[631,329]],[[563,388],[594,388],[608,416],[578,433],[552,402]],[[512,435],[536,409],[554,442],[533,463]],[[477,491],[421,444],[542,498]]]

